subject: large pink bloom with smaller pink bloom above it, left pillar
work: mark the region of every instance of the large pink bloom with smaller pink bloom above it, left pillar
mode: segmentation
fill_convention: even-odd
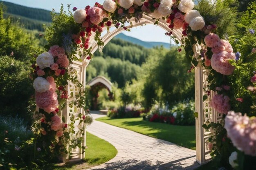
[[[36,92],[36,105],[42,108],[47,113],[53,112],[58,107],[58,95],[56,91],[56,84],[53,77],[47,77],[47,81],[50,84],[49,91],[39,93]]]

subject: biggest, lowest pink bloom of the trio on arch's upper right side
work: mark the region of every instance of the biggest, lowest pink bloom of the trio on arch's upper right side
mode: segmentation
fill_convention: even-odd
[[[226,51],[218,54],[213,54],[211,57],[211,67],[218,73],[224,75],[231,75],[235,69],[234,66],[229,64],[229,60],[235,60],[236,56],[234,53],[228,53]]]

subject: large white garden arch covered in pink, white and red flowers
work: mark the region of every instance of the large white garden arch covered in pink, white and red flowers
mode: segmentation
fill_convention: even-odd
[[[224,120],[232,97],[227,93],[228,82],[220,79],[233,73],[236,56],[231,44],[220,39],[224,35],[216,34],[223,30],[214,20],[204,20],[202,15],[207,12],[200,15],[194,7],[192,0],[105,0],[103,5],[74,7],[74,14],[65,13],[63,7],[60,14],[53,12],[53,25],[46,28],[48,52],[36,51],[32,61],[37,104],[34,126],[41,137],[37,142],[42,144],[47,138],[45,148],[64,155],[64,161],[83,159],[85,127],[92,122],[85,108],[85,71],[93,53],[122,31],[157,24],[184,46],[195,68],[196,161],[211,160],[210,125]],[[117,29],[109,31],[113,26]],[[101,37],[104,30],[108,33]]]

